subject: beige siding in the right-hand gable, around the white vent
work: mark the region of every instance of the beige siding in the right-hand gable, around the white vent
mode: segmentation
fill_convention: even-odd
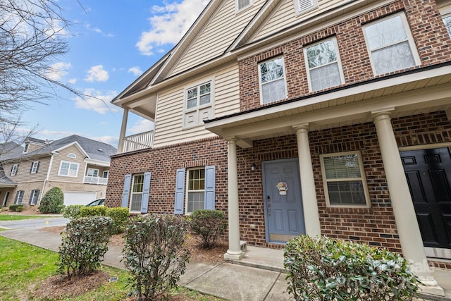
[[[323,13],[327,11],[330,6],[338,4],[342,0],[319,0],[318,8],[313,11],[308,11],[307,13],[302,13],[297,15],[295,11],[295,1],[294,0],[283,0],[276,11],[272,14],[265,24],[261,27],[261,30],[255,35],[254,40],[264,37],[266,35],[271,35],[273,32],[282,30],[285,27],[292,25],[293,23],[299,21],[299,18],[307,18]]]

